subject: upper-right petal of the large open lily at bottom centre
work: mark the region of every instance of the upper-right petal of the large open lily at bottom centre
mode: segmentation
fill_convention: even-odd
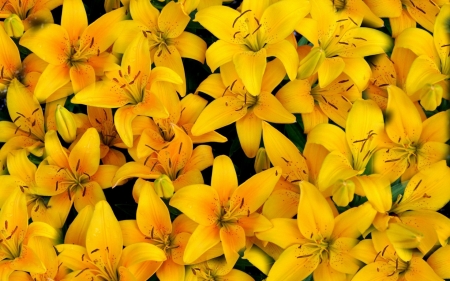
[[[267,200],[281,176],[281,169],[273,167],[258,173],[241,184],[231,195],[230,209],[241,216],[249,216]],[[255,190],[255,187],[258,187]]]

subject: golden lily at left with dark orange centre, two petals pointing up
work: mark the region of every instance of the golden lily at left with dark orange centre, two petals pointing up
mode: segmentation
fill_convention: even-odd
[[[94,128],[83,134],[70,153],[51,130],[45,136],[45,150],[46,163],[39,165],[36,171],[41,195],[66,194],[78,211],[105,199],[102,188],[112,186],[111,180],[118,167],[99,165],[100,138]]]

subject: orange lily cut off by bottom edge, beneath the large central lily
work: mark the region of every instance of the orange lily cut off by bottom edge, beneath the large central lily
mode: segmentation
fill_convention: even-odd
[[[254,281],[247,273],[233,269],[223,257],[207,260],[200,264],[187,266],[186,281]]]

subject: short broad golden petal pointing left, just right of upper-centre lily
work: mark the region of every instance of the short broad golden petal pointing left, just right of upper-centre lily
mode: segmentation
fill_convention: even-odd
[[[311,85],[307,80],[292,80],[278,90],[275,97],[290,113],[310,113],[314,108],[314,98],[310,94]]]

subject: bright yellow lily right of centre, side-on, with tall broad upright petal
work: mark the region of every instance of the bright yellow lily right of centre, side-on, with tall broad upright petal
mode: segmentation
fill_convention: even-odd
[[[323,160],[317,185],[326,196],[332,195],[338,206],[347,206],[355,192],[364,195],[373,185],[389,186],[378,176],[357,177],[380,148],[383,123],[381,110],[373,101],[358,100],[350,110],[345,133],[334,125],[320,124],[308,134],[308,143],[323,145],[330,152]]]

